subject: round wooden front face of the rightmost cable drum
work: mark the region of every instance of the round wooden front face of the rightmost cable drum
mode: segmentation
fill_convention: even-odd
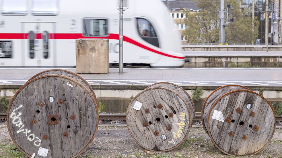
[[[232,156],[253,155],[270,143],[275,114],[269,102],[253,91],[236,90],[211,107],[207,130],[215,146]]]

